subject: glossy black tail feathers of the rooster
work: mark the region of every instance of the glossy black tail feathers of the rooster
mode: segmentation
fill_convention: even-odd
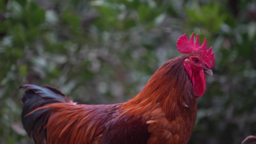
[[[19,89],[21,88],[27,88],[21,98],[23,103],[21,113],[23,128],[30,138],[33,138],[35,144],[43,144],[46,139],[46,129],[44,127],[48,122],[50,111],[49,109],[41,109],[33,113],[30,112],[48,104],[71,101],[58,89],[49,86],[22,85]]]

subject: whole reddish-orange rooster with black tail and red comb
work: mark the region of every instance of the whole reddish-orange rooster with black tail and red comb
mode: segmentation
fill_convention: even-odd
[[[187,144],[215,57],[194,34],[179,37],[177,49],[188,55],[165,62],[121,104],[76,104],[50,86],[21,86],[24,129],[35,144]]]

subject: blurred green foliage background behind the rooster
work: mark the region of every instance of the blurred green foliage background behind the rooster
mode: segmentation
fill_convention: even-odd
[[[256,135],[256,0],[0,0],[0,144],[33,144],[18,86],[125,102],[192,32],[216,62],[189,144],[240,144]]]

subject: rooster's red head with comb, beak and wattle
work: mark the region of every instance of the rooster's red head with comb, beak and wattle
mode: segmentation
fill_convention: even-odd
[[[213,75],[211,68],[214,66],[215,57],[214,52],[211,53],[210,47],[207,50],[206,38],[200,46],[198,34],[196,35],[196,42],[194,43],[194,33],[190,40],[186,34],[180,36],[177,41],[177,49],[180,53],[188,53],[183,65],[187,70],[188,76],[193,84],[193,90],[196,98],[202,96],[205,92],[205,75],[204,73]]]

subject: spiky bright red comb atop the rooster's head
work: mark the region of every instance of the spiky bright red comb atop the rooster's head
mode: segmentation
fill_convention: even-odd
[[[186,34],[183,34],[177,41],[177,49],[180,53],[198,54],[203,59],[207,68],[212,68],[215,62],[214,52],[211,53],[211,48],[212,47],[207,50],[206,38],[204,38],[204,42],[200,46],[198,34],[196,35],[196,42],[194,43],[194,33],[192,33],[190,40],[188,40]]]

